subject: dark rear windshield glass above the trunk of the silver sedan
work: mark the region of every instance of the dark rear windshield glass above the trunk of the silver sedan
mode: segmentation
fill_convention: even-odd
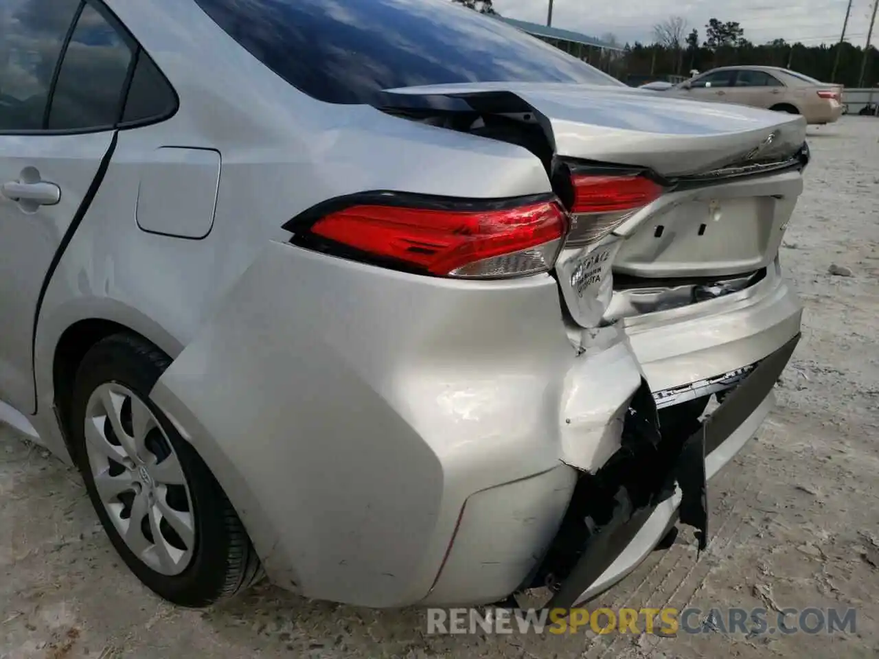
[[[555,47],[448,0],[196,0],[260,62],[331,103],[423,84],[621,85]]]

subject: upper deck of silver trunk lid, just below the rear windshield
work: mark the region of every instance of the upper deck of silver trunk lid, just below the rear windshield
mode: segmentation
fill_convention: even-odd
[[[519,98],[553,141],[556,154],[646,167],[665,177],[715,170],[760,149],[781,159],[803,145],[798,115],[744,105],[700,103],[610,85],[460,83],[389,90],[389,95],[439,96],[478,102],[498,94]],[[773,135],[770,143],[767,138]]]

